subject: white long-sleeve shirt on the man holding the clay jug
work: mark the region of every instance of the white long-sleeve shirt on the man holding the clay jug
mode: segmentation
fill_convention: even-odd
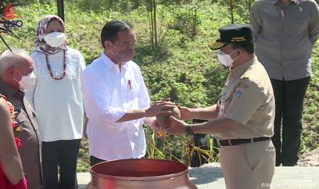
[[[88,151],[102,160],[139,158],[145,155],[144,118],[116,123],[126,110],[150,107],[140,68],[134,62],[114,64],[104,53],[81,78],[88,117]]]

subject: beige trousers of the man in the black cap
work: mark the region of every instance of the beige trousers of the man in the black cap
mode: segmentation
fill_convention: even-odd
[[[220,147],[220,164],[226,188],[270,188],[275,155],[271,140]]]

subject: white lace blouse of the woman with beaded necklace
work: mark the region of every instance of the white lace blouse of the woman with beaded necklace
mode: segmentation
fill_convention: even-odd
[[[54,79],[49,73],[44,53],[34,52],[36,84],[27,90],[27,98],[36,110],[36,120],[44,142],[82,138],[84,108],[80,77],[85,62],[79,51],[66,51],[66,76]],[[49,65],[55,77],[63,75],[63,51],[48,55]]]

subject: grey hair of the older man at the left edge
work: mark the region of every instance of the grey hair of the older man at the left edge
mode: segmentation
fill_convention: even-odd
[[[23,49],[6,50],[0,57],[0,75],[2,75],[10,67],[18,67],[21,62],[27,58],[29,54]]]

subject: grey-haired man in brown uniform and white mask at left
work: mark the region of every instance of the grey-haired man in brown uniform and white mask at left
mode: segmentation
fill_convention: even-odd
[[[25,99],[34,66],[25,51],[12,49],[12,53],[5,51],[0,58],[0,94],[14,106],[14,136],[21,140],[19,154],[27,188],[36,189],[42,185],[41,139],[34,110]]]

